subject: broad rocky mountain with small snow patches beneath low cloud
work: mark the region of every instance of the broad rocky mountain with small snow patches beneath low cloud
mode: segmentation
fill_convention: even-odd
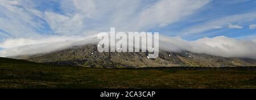
[[[127,67],[238,67],[255,66],[255,59],[224,58],[190,51],[159,51],[159,57],[148,59],[145,53],[99,53],[97,45],[72,46],[47,54],[22,55],[12,58],[60,66],[83,66],[99,68]]]

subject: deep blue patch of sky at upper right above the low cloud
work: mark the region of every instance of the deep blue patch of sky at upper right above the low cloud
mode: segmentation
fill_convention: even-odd
[[[206,31],[201,31],[193,34],[180,34],[187,32],[191,29],[191,27],[196,27],[200,25],[207,25],[208,21],[214,20],[218,21],[226,21],[221,20],[222,18],[230,16],[239,16],[247,13],[251,13],[252,15],[256,13],[256,1],[212,1],[200,8],[197,12],[188,16],[186,19],[178,21],[177,23],[171,24],[167,27],[156,28],[153,31],[162,31],[168,36],[177,36],[187,40],[196,40],[201,37],[216,37],[216,36],[226,36],[232,38],[240,38],[240,37],[250,37],[256,35],[256,30],[253,28],[249,28],[249,25],[253,25],[256,23],[255,16],[252,16],[250,19],[250,15],[244,16],[244,19],[241,17],[240,20],[232,20],[227,21],[227,23],[212,26],[212,29],[207,29]],[[249,19],[248,19],[249,18]],[[214,22],[213,21],[213,22]],[[229,24],[239,25],[243,28],[229,28]],[[216,28],[214,28],[216,27]],[[200,27],[197,27],[200,28]],[[196,28],[193,28],[196,29]]]

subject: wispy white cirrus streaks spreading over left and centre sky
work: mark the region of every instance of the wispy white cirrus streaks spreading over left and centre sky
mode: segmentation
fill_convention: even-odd
[[[44,8],[47,2],[55,5]],[[41,3],[3,0],[0,5],[0,29],[9,34],[2,32],[0,35],[5,38],[77,35],[108,31],[110,27],[119,31],[147,31],[175,23],[207,3],[209,0],[146,3],[127,0],[48,0]]]

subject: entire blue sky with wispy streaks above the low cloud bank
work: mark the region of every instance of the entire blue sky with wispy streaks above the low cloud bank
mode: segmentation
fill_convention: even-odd
[[[255,5],[255,0],[1,0],[0,56],[20,46],[82,40],[110,27],[188,42],[249,41],[255,47]]]

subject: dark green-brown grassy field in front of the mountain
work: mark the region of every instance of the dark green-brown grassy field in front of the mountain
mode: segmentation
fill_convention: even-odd
[[[256,68],[104,69],[0,58],[0,88],[256,88]]]

